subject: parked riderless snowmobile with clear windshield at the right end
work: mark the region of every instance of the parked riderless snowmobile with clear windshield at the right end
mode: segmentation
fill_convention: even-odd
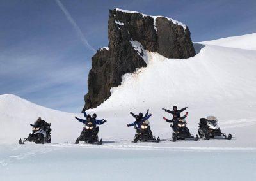
[[[227,136],[226,133],[222,133],[217,122],[218,120],[214,116],[208,116],[206,119],[201,118],[198,129],[200,138],[204,138],[205,140],[209,140],[210,138],[225,138],[231,140],[232,134],[229,133]]]

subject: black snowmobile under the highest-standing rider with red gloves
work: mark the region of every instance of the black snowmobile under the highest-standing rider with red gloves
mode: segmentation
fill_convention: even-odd
[[[193,134],[190,133],[187,125],[186,120],[180,119],[177,123],[171,124],[170,127],[173,129],[172,133],[172,141],[175,142],[177,140],[195,140],[198,141],[199,137],[196,134],[196,137],[194,137]]]

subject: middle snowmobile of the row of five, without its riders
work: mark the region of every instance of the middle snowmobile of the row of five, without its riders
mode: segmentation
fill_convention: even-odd
[[[141,124],[141,128],[134,126],[134,129],[136,129],[136,134],[134,136],[134,143],[140,142],[156,142],[159,143],[160,138],[152,135],[152,131],[150,129],[149,122],[146,120]]]

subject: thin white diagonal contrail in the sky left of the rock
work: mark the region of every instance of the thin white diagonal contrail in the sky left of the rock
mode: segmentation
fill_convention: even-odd
[[[93,52],[96,52],[96,50],[88,43],[88,41],[86,40],[84,34],[82,33],[81,29],[79,28],[79,26],[76,24],[76,22],[74,21],[74,19],[71,17],[70,13],[68,12],[68,10],[65,8],[65,6],[60,2],[60,0],[55,0],[56,3],[58,4],[58,6],[60,7],[61,11],[63,11],[63,13],[65,14],[65,16],[67,17],[68,22],[70,22],[70,24],[72,25],[72,27],[75,29],[77,35],[79,36],[80,40],[83,42],[83,44],[89,48],[90,50],[92,50]]]

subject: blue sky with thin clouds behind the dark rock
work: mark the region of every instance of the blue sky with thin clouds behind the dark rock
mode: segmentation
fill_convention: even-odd
[[[67,11],[54,0],[0,1],[0,94],[80,112],[93,49],[108,46],[113,8],[179,20],[193,41],[256,32],[255,0],[60,2]]]

